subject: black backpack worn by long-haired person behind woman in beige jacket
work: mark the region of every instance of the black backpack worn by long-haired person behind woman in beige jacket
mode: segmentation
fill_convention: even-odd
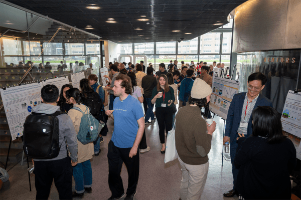
[[[98,101],[98,94],[96,92],[90,92],[90,93],[85,93],[86,99],[84,102],[84,105],[86,105],[87,107],[90,107],[90,113],[93,117],[95,117],[96,119],[99,118],[99,113],[101,111],[102,108],[102,103],[100,103]]]

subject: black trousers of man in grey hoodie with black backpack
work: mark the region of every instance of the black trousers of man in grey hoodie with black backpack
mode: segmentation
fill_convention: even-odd
[[[60,199],[72,199],[72,166],[69,156],[60,160],[35,161],[34,172],[36,199],[48,199],[53,180]]]

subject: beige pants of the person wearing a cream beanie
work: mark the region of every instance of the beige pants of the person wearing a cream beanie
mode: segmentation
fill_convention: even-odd
[[[209,161],[205,164],[191,165],[184,163],[180,157],[178,159],[182,171],[181,200],[200,200],[207,179]]]

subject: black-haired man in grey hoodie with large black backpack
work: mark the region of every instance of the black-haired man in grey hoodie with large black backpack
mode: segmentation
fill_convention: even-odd
[[[76,132],[71,118],[57,106],[60,98],[55,85],[44,86],[41,98],[43,103],[33,107],[26,118],[23,137],[26,155],[34,158],[36,199],[48,199],[53,179],[60,199],[72,199],[72,166],[78,158]]]

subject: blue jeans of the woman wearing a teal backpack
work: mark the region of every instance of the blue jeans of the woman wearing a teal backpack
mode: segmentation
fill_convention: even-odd
[[[91,187],[92,167],[90,160],[77,163],[77,165],[73,167],[73,177],[76,193],[83,193],[85,191],[85,187]]]

